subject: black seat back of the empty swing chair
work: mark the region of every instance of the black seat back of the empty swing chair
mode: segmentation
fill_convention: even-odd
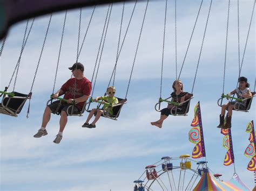
[[[28,98],[28,94],[21,94],[16,91],[14,91],[13,93],[15,97],[23,97],[23,98],[15,98],[15,97],[8,96],[8,98],[4,98],[3,105],[13,110],[14,112],[17,111],[16,114],[19,114],[23,108],[26,98]]]

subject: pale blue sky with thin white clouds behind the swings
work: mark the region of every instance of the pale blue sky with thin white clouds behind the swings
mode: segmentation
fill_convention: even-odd
[[[244,51],[248,24],[253,1],[240,2],[240,55]],[[191,47],[188,51],[181,80],[184,90],[191,91],[203,38],[210,1],[204,1],[199,15]],[[143,19],[145,2],[138,3],[120,54],[116,88],[118,97],[124,97],[136,50],[139,29]],[[200,1],[177,2],[177,60],[178,70],[190,39]],[[17,117],[1,115],[1,190],[131,190],[133,181],[144,172],[145,166],[154,164],[161,157],[179,157],[191,154],[194,144],[188,141],[188,131],[193,120],[193,107],[201,104],[206,157],[214,173],[223,174],[224,180],[233,175],[233,165],[224,166],[227,152],[222,146],[223,135],[215,128],[219,122],[220,108],[217,100],[223,89],[225,56],[227,1],[213,1],[208,21],[198,75],[194,86],[194,98],[187,117],[166,119],[162,129],[150,125],[159,118],[154,111],[160,93],[161,51],[165,1],[149,3],[138,55],[132,74],[131,85],[118,121],[100,118],[96,129],[84,129],[87,113],[83,117],[69,117],[68,125],[59,145],[52,143],[58,133],[59,116],[51,117],[47,126],[48,136],[35,139],[33,135],[41,126],[46,101],[52,93],[53,80],[58,58],[58,47],[64,19],[64,12],[54,13],[46,40],[41,64],[33,87],[30,117],[26,119],[25,105]],[[125,6],[123,29],[126,29],[133,3]],[[92,9],[83,9],[82,33],[84,35]],[[92,77],[100,35],[107,6],[95,10],[85,45],[79,61],[85,65],[85,76]],[[113,5],[109,31],[100,63],[98,79],[93,95],[103,95],[109,82],[117,51],[118,32],[122,4]],[[79,10],[68,11],[60,55],[56,89],[71,73],[68,67],[76,61]],[[19,69],[16,91],[29,93],[36,64],[44,40],[49,16],[36,18],[31,36],[25,47]],[[8,85],[18,60],[22,45],[25,22],[11,27],[1,61],[1,87]],[[124,36],[124,30],[122,37]],[[163,72],[163,97],[168,97],[175,80],[174,1],[168,2]],[[179,71],[178,71],[179,72]],[[241,71],[254,86],[255,79],[255,16],[248,39],[244,64]],[[230,26],[228,31],[225,93],[237,85],[238,78],[238,31],[237,1],[231,1]],[[12,85],[10,90],[12,90]],[[246,125],[255,119],[255,100],[251,110],[233,112],[232,138],[235,155],[235,169],[242,181],[253,188],[253,173],[246,167],[250,158],[244,156],[249,144]],[[192,166],[193,167],[193,166]],[[24,183],[25,182],[25,183]]]

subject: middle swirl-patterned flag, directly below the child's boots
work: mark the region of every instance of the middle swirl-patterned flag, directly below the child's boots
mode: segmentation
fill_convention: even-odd
[[[221,129],[220,133],[224,135],[223,146],[227,148],[227,153],[224,159],[224,165],[228,166],[234,163],[234,152],[233,152],[231,129]]]

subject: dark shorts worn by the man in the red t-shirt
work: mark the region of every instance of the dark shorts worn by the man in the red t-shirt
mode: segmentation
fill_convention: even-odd
[[[51,112],[53,114],[60,115],[62,111],[66,112],[66,115],[68,115],[68,108],[70,107],[69,103],[63,103],[60,102],[59,100],[52,102],[51,104],[48,105],[48,107],[51,109]],[[72,107],[69,108],[69,114],[72,112]],[[72,114],[77,114],[79,112],[79,109],[76,107],[76,105],[73,105],[73,113]]]

